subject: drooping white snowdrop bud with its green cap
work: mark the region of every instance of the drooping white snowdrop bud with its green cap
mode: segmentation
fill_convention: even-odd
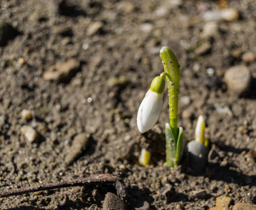
[[[166,81],[160,76],[156,76],[156,78],[152,80],[150,88],[137,111],[137,128],[141,133],[150,130],[159,119],[163,105],[163,90],[165,86]]]

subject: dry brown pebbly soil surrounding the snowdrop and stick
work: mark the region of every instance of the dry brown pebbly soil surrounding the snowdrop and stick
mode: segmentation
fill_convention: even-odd
[[[127,209],[210,209],[220,196],[227,209],[256,204],[255,0],[1,0],[0,21],[1,191],[109,173],[126,184]],[[163,45],[180,62],[184,141],[206,119],[202,174],[186,160],[164,164],[167,91],[156,126],[137,130]],[[236,75],[227,84],[233,66],[250,71],[250,85]],[[102,209],[109,192],[48,190],[0,198],[0,208]]]

